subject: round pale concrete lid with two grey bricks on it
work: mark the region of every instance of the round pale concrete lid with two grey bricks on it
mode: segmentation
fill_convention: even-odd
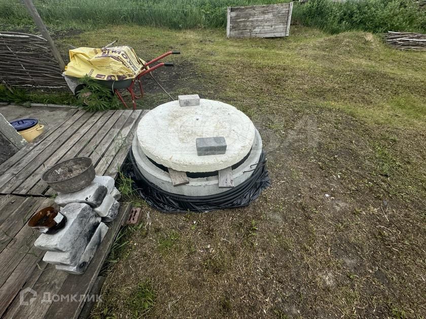
[[[235,107],[206,99],[200,105],[183,106],[179,101],[162,104],[139,122],[139,147],[155,162],[184,172],[212,172],[230,167],[252,148],[255,126]],[[198,137],[225,137],[225,154],[198,156]]]

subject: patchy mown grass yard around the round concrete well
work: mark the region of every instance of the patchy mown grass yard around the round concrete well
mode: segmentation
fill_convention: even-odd
[[[424,317],[426,53],[365,32],[292,26],[287,38],[110,26],[59,41],[118,39],[173,97],[251,117],[272,186],[252,205],[202,214],[143,207],[105,270],[94,317]],[[169,97],[144,80],[140,108]]]

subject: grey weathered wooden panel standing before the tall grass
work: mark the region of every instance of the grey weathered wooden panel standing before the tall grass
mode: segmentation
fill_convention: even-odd
[[[228,7],[227,37],[278,37],[290,34],[293,2]]]

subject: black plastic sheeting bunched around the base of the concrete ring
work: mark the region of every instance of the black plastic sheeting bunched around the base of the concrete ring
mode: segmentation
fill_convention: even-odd
[[[205,212],[247,206],[271,185],[263,151],[259,164],[249,179],[225,192],[210,196],[185,196],[162,190],[140,173],[131,150],[124,163],[123,172],[133,180],[133,188],[140,197],[164,213]]]

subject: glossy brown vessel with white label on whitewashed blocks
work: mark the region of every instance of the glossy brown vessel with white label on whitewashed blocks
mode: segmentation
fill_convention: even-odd
[[[28,221],[28,226],[45,234],[54,234],[65,226],[66,217],[52,206],[38,211]]]

